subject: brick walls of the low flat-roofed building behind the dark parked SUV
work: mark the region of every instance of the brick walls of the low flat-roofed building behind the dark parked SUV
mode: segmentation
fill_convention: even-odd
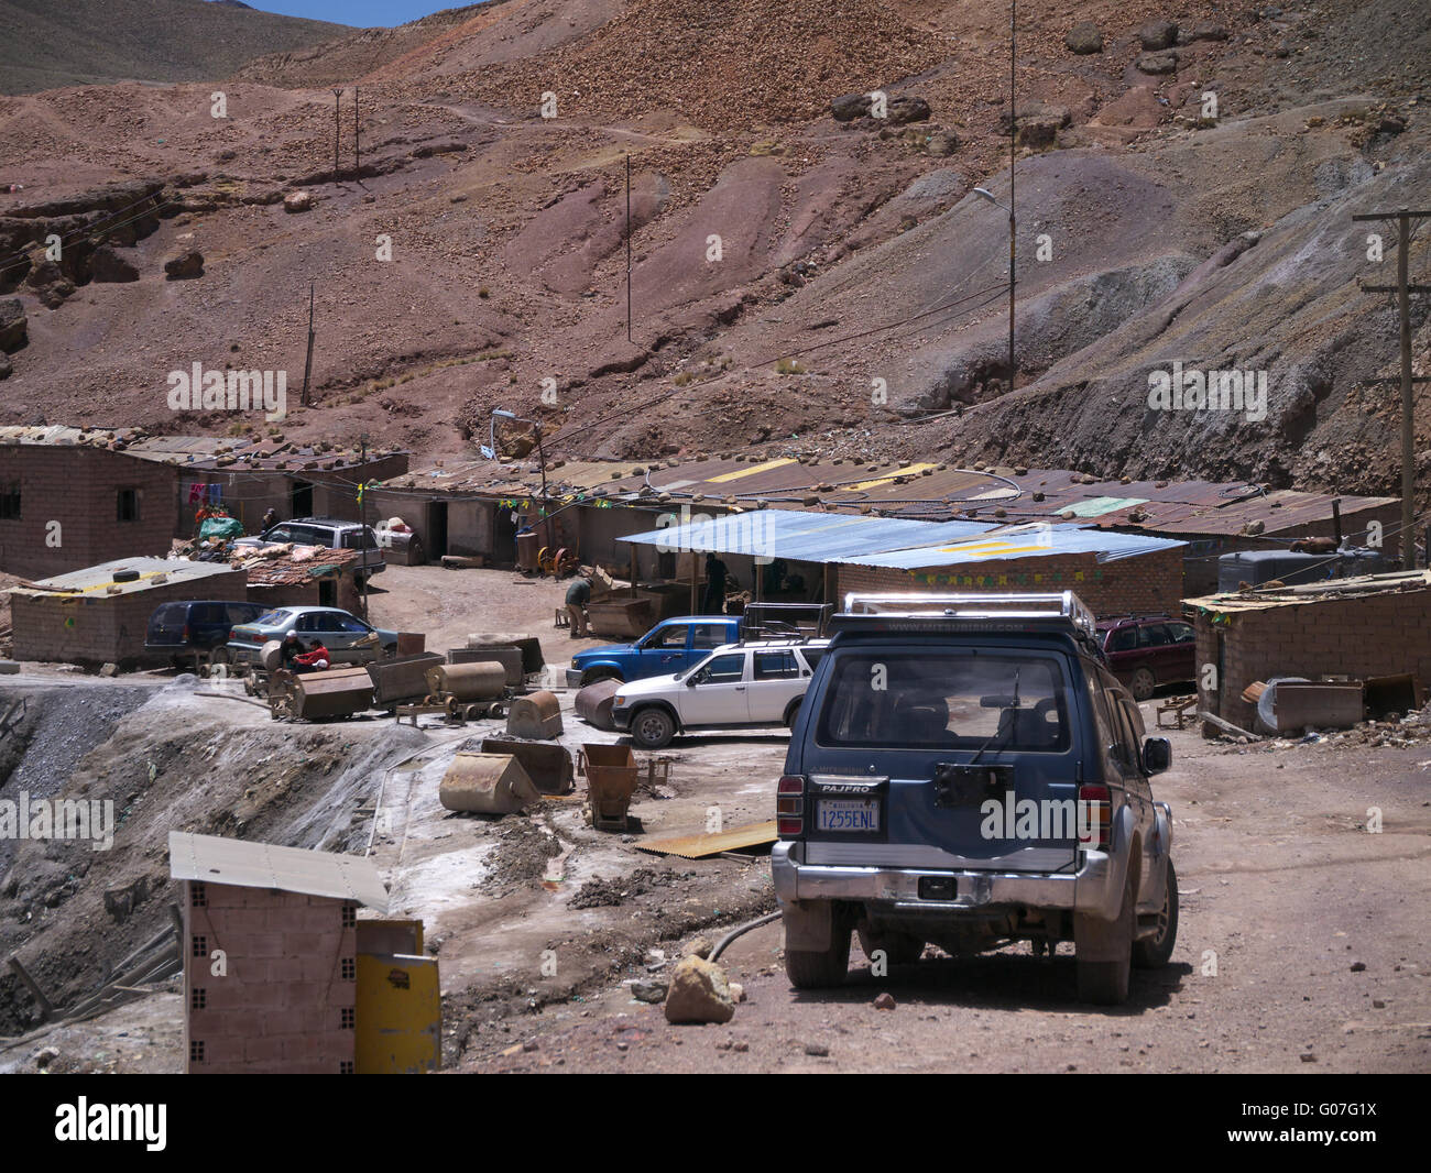
[[[62,664],[152,662],[145,654],[149,617],[165,602],[248,598],[248,574],[229,571],[145,591],[106,595],[11,595],[14,658]]]

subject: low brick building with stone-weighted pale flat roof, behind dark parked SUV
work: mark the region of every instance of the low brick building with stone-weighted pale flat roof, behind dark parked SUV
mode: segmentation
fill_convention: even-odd
[[[223,562],[179,558],[104,562],[11,588],[13,655],[120,668],[162,664],[165,657],[145,652],[155,608],[187,599],[243,602],[246,598],[248,575]]]

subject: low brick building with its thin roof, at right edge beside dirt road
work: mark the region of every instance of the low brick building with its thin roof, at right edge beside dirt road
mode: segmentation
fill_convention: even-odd
[[[1411,674],[1431,684],[1431,571],[1188,599],[1198,637],[1198,707],[1254,730],[1242,689],[1272,677],[1368,679]],[[1203,665],[1216,688],[1203,688]]]

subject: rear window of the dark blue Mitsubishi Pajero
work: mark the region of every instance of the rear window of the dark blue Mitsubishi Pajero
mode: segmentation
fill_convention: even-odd
[[[1050,657],[851,651],[836,655],[816,737],[826,747],[1062,752],[1068,688]]]

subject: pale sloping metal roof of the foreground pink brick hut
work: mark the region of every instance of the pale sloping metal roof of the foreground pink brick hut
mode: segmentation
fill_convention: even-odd
[[[388,890],[371,860],[276,847],[219,835],[169,833],[169,875],[240,888],[278,888],[285,893],[356,900],[378,913],[388,911]]]

